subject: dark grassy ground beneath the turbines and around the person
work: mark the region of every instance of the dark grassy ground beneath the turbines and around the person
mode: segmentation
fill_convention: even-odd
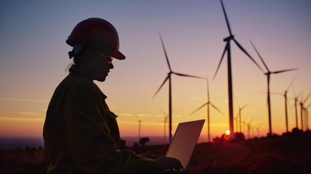
[[[168,145],[127,149],[165,156]],[[311,132],[197,144],[188,169],[189,174],[311,174]],[[0,174],[44,173],[44,151],[0,151]]]

